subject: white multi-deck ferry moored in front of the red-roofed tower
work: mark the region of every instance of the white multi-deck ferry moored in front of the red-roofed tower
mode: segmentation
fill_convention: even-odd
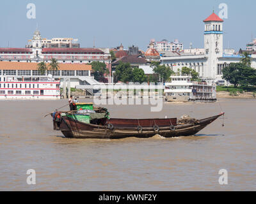
[[[172,76],[166,82],[164,94],[168,102],[212,102],[216,101],[216,85],[206,82],[193,82],[189,76]]]

